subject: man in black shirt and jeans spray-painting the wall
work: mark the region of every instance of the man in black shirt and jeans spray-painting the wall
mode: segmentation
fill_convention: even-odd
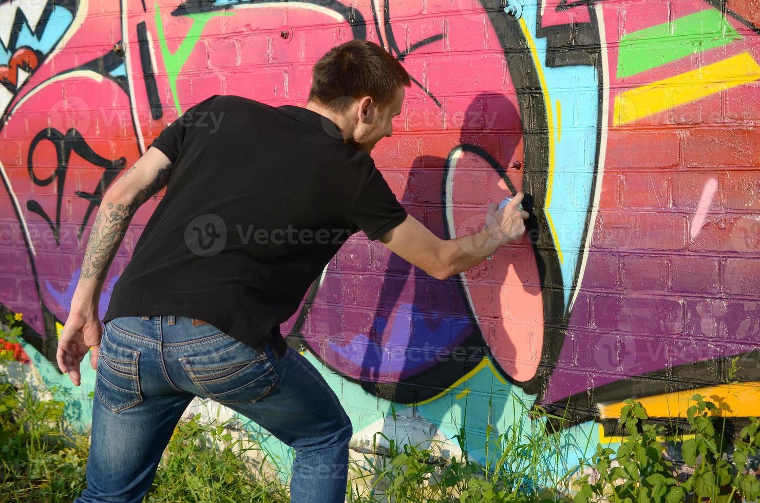
[[[306,108],[211,96],[106,191],[58,350],[75,385],[88,350],[97,370],[87,489],[76,501],[141,501],[196,395],[294,448],[292,501],[344,501],[350,419],[280,323],[359,230],[444,280],[520,238],[527,218],[521,193],[502,210],[490,204],[486,226],[458,239],[407,215],[369,156],[393,133],[405,87],[388,52],[352,40],[315,64]],[[102,331],[109,264],[135,211],[164,185]]]

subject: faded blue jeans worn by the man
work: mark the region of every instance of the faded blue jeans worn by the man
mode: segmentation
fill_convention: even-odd
[[[106,323],[97,361],[87,488],[74,503],[142,501],[174,428],[198,395],[267,429],[296,452],[291,501],[345,500],[349,417],[314,365],[275,355],[183,316]]]

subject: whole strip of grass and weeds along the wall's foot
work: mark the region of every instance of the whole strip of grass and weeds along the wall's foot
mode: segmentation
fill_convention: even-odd
[[[13,320],[8,321],[12,326]],[[17,335],[15,327],[0,331],[3,340],[13,341]],[[0,364],[12,359],[12,353],[0,350]],[[734,361],[729,381],[736,372]],[[26,378],[17,387],[0,369],[0,501],[73,501],[86,486],[89,431],[72,429],[65,419],[65,401],[56,398],[61,395],[46,391],[52,392],[51,399],[40,397]],[[676,503],[741,501],[739,495],[755,501],[760,495],[760,480],[749,470],[749,460],[760,449],[760,420],[750,418],[730,444],[724,435],[726,416],[719,414],[723,406],[701,395],[693,397],[686,431],[669,437],[680,444],[686,465],[693,469],[691,477],[679,479],[663,456],[663,428],[651,424],[635,400],[625,400],[620,423],[628,435],[616,451],[597,444],[589,459],[568,460],[569,451],[589,452],[591,437],[578,444],[571,430],[562,428],[562,417],[527,405],[517,394],[510,392],[509,397],[515,422],[494,434],[493,397],[502,392],[492,391],[484,444],[474,446],[485,451],[485,460],[470,459],[465,400],[463,422],[454,425],[460,457],[436,455],[441,441],[411,444],[398,432],[377,432],[371,448],[353,455],[347,501]],[[391,403],[385,424],[394,425],[396,419]],[[689,438],[684,440],[684,434]],[[176,426],[144,501],[289,501],[287,483],[277,476],[287,471],[239,427],[239,419],[205,422],[197,414]]]

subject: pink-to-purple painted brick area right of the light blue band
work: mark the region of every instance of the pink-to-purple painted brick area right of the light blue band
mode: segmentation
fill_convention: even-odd
[[[599,6],[609,48],[619,46],[622,33],[712,8],[705,2],[635,2],[625,5],[622,19],[614,2]],[[737,54],[749,53],[760,61],[758,38],[749,36],[739,21],[727,20],[744,36],[701,52],[698,59],[676,59],[619,78],[620,53],[609,50],[603,56],[609,68],[604,97],[610,106],[604,118],[606,157],[598,214],[546,402],[562,403],[574,394],[584,400],[589,389],[621,381],[621,376],[666,369],[692,372],[697,362],[749,355],[760,345],[758,326],[749,321],[757,317],[758,294],[742,286],[756,282],[760,274],[758,267],[749,267],[752,259],[742,258],[758,253],[745,215],[758,209],[746,180],[757,169],[760,143],[744,128],[703,125],[727,117],[745,120],[743,103],[757,100],[756,82],[705,92],[625,125],[615,122],[614,104],[621,93]],[[729,272],[724,270],[721,280],[718,262],[724,259]],[[724,292],[721,281],[727,281]],[[709,372],[699,378],[716,377]],[[594,400],[606,396],[597,391]]]

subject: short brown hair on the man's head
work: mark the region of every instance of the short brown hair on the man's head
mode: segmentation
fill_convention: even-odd
[[[333,47],[315,63],[309,101],[338,113],[350,106],[348,98],[370,96],[386,106],[401,85],[411,86],[401,63],[378,44],[355,39]]]

